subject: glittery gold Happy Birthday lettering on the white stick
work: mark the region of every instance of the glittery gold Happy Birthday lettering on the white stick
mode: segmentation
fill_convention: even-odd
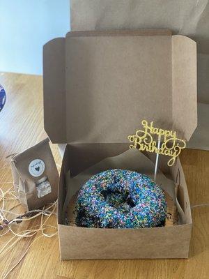
[[[148,121],[141,121],[144,130],[137,130],[135,135],[129,135],[127,137],[128,140],[133,143],[130,145],[130,148],[170,156],[171,159],[168,161],[168,165],[171,167],[176,162],[176,158],[180,154],[180,151],[185,149],[186,142],[185,140],[178,139],[175,131],[156,128],[153,126],[153,123],[152,121],[150,125],[148,125]],[[157,141],[154,140],[153,135],[158,136],[158,144]],[[163,140],[160,146],[159,142],[161,139]]]

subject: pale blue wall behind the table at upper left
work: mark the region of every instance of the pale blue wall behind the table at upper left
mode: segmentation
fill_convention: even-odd
[[[0,0],[0,71],[42,75],[42,45],[68,31],[69,0]]]

